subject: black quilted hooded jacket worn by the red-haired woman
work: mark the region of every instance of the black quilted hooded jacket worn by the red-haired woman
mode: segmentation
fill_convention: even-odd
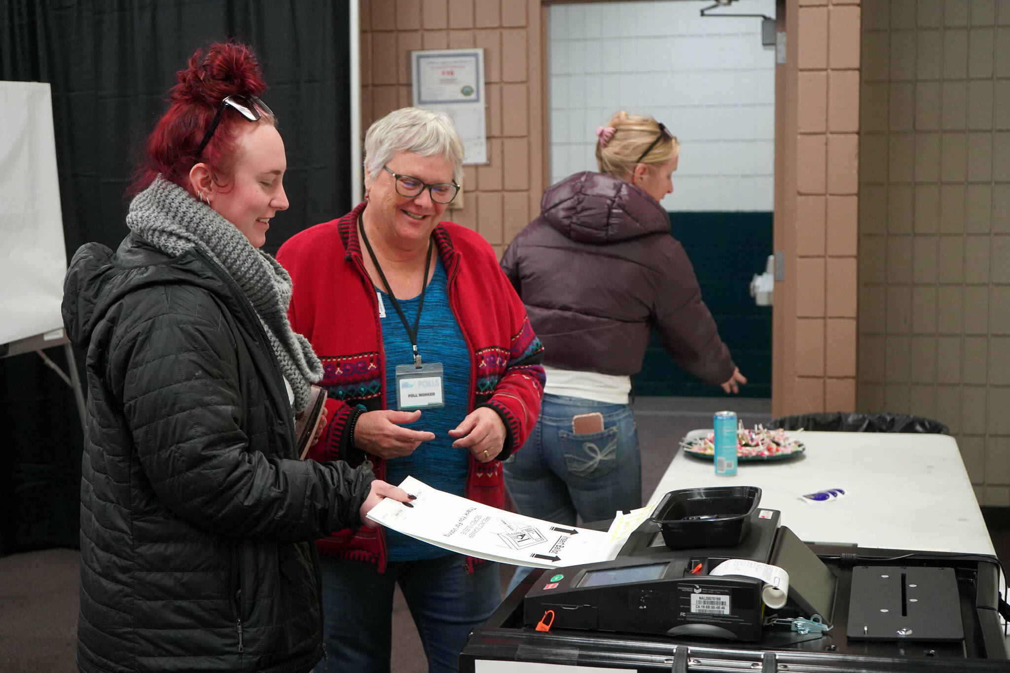
[[[263,327],[204,252],[91,243],[64,289],[89,388],[80,670],[310,670],[311,541],[361,525],[372,473],[294,459]]]

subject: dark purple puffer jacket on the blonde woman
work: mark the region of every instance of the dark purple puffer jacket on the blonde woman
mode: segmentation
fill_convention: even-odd
[[[685,369],[713,385],[733,360],[659,202],[622,180],[577,173],[543,193],[502,268],[543,342],[543,364],[630,375],[652,328]]]

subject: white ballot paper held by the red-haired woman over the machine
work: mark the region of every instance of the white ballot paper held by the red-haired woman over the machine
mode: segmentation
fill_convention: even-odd
[[[442,549],[534,568],[610,561],[651,513],[651,508],[616,513],[609,531],[590,531],[475,502],[412,476],[400,487],[417,496],[410,501],[413,507],[387,497],[372,509],[369,519]]]

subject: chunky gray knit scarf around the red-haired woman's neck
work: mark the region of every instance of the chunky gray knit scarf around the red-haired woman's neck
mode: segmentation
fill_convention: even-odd
[[[284,267],[210,206],[161,176],[130,203],[126,225],[173,256],[200,247],[231,275],[267,330],[281,373],[295,391],[295,411],[305,409],[309,384],[322,378],[322,365],[288,322],[291,276]]]

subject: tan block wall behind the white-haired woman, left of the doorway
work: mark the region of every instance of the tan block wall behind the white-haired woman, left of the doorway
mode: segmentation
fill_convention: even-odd
[[[499,256],[539,213],[543,190],[540,0],[360,0],[362,124],[408,106],[410,52],[483,47],[487,165],[464,172],[463,208]]]

